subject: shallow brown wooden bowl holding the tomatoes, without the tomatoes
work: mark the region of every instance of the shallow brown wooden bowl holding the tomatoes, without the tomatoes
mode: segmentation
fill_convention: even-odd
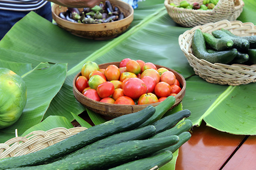
[[[100,64],[99,68],[107,68],[108,65],[112,65],[112,64],[119,67],[120,62],[109,62],[105,64]],[[178,73],[175,70],[172,70],[168,67],[164,67],[161,65],[155,65],[155,66],[157,67],[157,69],[163,67],[163,68],[167,68],[169,71],[172,71],[175,74],[176,79],[180,82],[181,91],[175,96],[176,101],[174,105],[170,108],[172,109],[181,102],[181,100],[185,95],[186,80],[184,79],[183,76],[181,76],[180,73]],[[149,105],[157,106],[161,103],[161,102],[157,102],[157,103],[146,104],[146,105],[117,105],[117,104],[98,102],[98,101],[89,99],[88,97],[85,97],[81,92],[77,90],[75,83],[78,76],[81,76],[81,72],[76,74],[75,78],[73,79],[73,94],[76,100],[78,100],[86,108],[91,109],[92,111],[102,115],[107,115],[110,117],[118,117],[125,114],[130,114],[130,113],[140,111]]]

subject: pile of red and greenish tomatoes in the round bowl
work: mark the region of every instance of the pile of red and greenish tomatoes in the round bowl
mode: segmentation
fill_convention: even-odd
[[[87,61],[76,79],[76,88],[84,96],[105,103],[144,105],[161,102],[180,91],[180,82],[166,68],[158,68],[151,62],[123,59],[119,67],[99,65]]]

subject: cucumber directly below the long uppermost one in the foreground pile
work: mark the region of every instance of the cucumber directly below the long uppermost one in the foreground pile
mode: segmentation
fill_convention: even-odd
[[[79,150],[76,150],[75,152],[72,152],[69,155],[63,156],[63,157],[61,157],[61,159],[70,158],[74,155],[79,155],[81,153],[90,152],[91,150],[104,148],[104,147],[107,147],[107,146],[110,146],[113,144],[118,144],[118,143],[125,142],[125,141],[143,140],[143,139],[151,137],[152,135],[155,134],[155,132],[156,132],[155,126],[148,125],[145,127],[141,127],[139,129],[121,132],[119,134],[114,134],[114,135],[111,135],[102,140],[96,141],[92,144],[89,144]]]

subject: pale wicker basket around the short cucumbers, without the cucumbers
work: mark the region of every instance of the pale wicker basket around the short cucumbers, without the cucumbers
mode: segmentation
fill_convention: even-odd
[[[256,82],[256,65],[242,64],[212,64],[203,59],[196,58],[192,53],[192,38],[196,29],[211,33],[214,30],[226,29],[238,36],[256,35],[256,26],[253,23],[242,23],[241,21],[218,21],[203,26],[196,26],[187,30],[179,36],[178,42],[181,50],[187,58],[190,66],[194,68],[195,74],[210,83],[221,85],[240,85]]]

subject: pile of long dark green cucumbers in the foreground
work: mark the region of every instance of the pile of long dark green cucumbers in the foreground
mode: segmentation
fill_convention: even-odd
[[[192,122],[183,120],[190,116],[189,110],[160,119],[171,108],[171,98],[158,105],[158,112],[148,106],[142,111],[90,127],[37,152],[0,159],[0,170],[159,168],[171,161],[172,153],[191,137],[188,131]],[[143,125],[150,117],[155,121]]]

